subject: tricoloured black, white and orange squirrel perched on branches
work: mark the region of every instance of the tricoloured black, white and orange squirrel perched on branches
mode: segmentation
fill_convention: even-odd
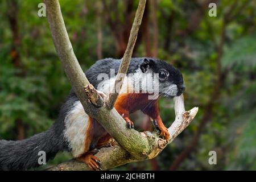
[[[121,59],[106,58],[96,61],[85,72],[90,84],[102,97],[106,97],[110,88],[113,88],[120,64]],[[152,78],[152,75],[158,77],[154,80],[147,79]],[[137,90],[131,84],[132,81]],[[158,94],[153,99],[149,99],[152,88],[148,89],[148,84],[158,88]],[[129,92],[125,90],[127,88]],[[170,134],[160,118],[158,98],[180,96],[184,90],[183,76],[171,64],[150,57],[132,58],[114,108],[125,119],[129,129],[134,128],[129,114],[141,110],[154,119],[153,125],[160,131],[160,135],[168,140]],[[94,155],[98,148],[111,146],[111,139],[104,127],[85,113],[81,102],[71,89],[67,100],[61,106],[59,117],[47,131],[24,140],[0,140],[0,169],[35,168],[39,166],[39,151],[46,152],[47,161],[54,158],[59,151],[68,151],[91,169],[101,170],[100,160]]]

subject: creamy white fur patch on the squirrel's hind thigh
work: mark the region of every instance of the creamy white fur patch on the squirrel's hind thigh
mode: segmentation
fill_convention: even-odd
[[[68,140],[69,148],[74,157],[80,156],[85,150],[85,132],[88,127],[89,116],[85,113],[80,101],[65,118],[64,137]]]

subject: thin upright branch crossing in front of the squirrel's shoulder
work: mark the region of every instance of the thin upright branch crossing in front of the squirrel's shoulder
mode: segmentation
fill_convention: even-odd
[[[114,88],[112,89],[112,92],[109,95],[108,102],[106,103],[108,109],[113,109],[115,101],[117,100],[119,91],[122,88],[123,79],[124,79],[123,75],[126,75],[129,64],[130,64],[131,55],[133,55],[133,48],[136,43],[139,27],[141,26],[145,5],[146,5],[146,0],[139,1],[138,9],[136,11],[134,22],[133,22],[133,27],[131,27],[130,37],[129,37],[129,41],[125,51],[125,55],[123,55],[122,63],[119,67],[117,78],[115,79]]]

